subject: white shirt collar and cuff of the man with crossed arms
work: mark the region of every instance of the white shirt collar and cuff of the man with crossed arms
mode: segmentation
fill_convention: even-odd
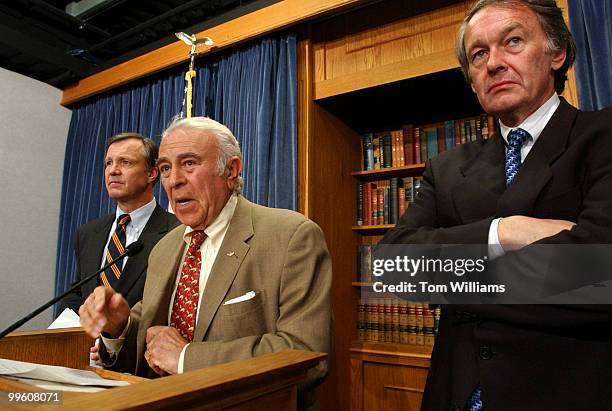
[[[506,142],[506,150],[508,145],[508,134],[510,131],[522,128],[527,131],[531,138],[525,141],[523,146],[521,147],[521,163],[525,161],[527,155],[531,151],[533,145],[542,134],[542,130],[548,124],[548,121],[553,116],[557,107],[561,104],[561,100],[557,93],[553,93],[553,95],[546,101],[546,103],[542,104],[542,106],[537,109],[533,114],[527,117],[521,124],[512,128],[504,125],[501,121],[499,122],[499,126],[501,129],[502,138]],[[504,255],[504,249],[499,243],[499,235],[497,229],[499,227],[499,222],[501,218],[496,218],[491,222],[489,226],[489,258],[497,258],[499,256]]]

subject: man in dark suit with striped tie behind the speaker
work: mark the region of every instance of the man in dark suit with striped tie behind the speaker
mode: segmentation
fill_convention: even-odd
[[[75,233],[74,250],[79,281],[106,264],[106,254],[117,221],[120,216],[130,216],[125,227],[124,245],[140,240],[144,249],[121,262],[121,275],[112,284],[130,306],[142,299],[151,249],[178,225],[176,217],[161,208],[153,196],[159,174],[157,154],[155,142],[140,134],[122,133],[111,137],[104,160],[104,180],[109,197],[117,201],[116,212],[80,226]],[[62,300],[62,311],[67,307],[78,311],[83,304],[83,296],[88,296],[97,285],[107,281],[110,280],[101,276],[97,282],[90,281],[83,285],[79,292]]]

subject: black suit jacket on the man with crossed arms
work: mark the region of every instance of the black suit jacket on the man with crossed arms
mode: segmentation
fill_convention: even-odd
[[[526,215],[577,223],[543,243],[612,243],[612,109],[561,99],[507,189],[504,156],[494,136],[432,158],[381,242],[486,244],[494,218]],[[444,306],[422,409],[461,409],[477,385],[485,410],[610,409],[611,308]]]

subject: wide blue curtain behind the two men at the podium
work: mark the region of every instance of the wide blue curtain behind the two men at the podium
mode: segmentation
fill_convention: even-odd
[[[243,195],[258,204],[295,210],[295,36],[259,40],[198,61],[197,65],[200,68],[194,85],[194,115],[206,115],[227,125],[240,142]],[[115,209],[104,187],[106,139],[119,132],[134,131],[159,143],[164,127],[181,110],[183,69],[130,84],[73,107],[60,206],[56,295],[76,279],[73,251],[76,228]],[[155,195],[166,207],[168,200],[161,184],[156,186]]]

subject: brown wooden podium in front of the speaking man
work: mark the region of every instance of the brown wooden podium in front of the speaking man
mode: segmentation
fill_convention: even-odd
[[[92,339],[80,328],[17,332],[0,340],[0,358],[88,369],[91,344]],[[132,384],[97,393],[65,392],[60,408],[295,410],[297,384],[326,356],[287,350],[153,380],[98,370],[106,378],[128,380]],[[37,388],[0,378],[0,391],[37,391]],[[58,406],[15,404],[7,409],[32,408],[57,410]]]

